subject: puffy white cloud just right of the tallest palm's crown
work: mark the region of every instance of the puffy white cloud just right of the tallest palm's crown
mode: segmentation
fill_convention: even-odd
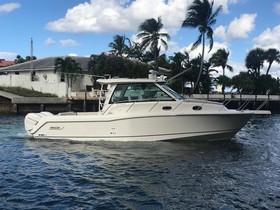
[[[245,39],[255,28],[257,14],[242,14],[240,18],[234,18],[228,26],[219,26],[214,31],[215,36],[226,40]]]

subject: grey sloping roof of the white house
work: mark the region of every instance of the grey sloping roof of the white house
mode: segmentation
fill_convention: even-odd
[[[8,67],[3,67],[0,69],[1,71],[9,72],[9,71],[30,71],[31,65],[33,66],[34,71],[43,71],[43,70],[53,70],[54,69],[54,61],[56,58],[65,58],[71,57],[77,63],[80,64],[80,67],[83,71],[88,70],[88,62],[89,57],[79,57],[79,56],[56,56],[56,57],[47,57],[42,59],[37,59],[33,61],[27,61],[24,63],[15,64]]]

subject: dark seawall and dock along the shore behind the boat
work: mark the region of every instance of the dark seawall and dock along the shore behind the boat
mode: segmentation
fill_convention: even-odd
[[[267,111],[280,112],[280,95],[245,94],[193,94],[185,98],[202,99],[223,103],[229,109],[255,110],[259,114]],[[22,97],[0,91],[0,114],[26,114],[29,112],[50,111],[97,111],[98,97],[83,92],[79,97]]]

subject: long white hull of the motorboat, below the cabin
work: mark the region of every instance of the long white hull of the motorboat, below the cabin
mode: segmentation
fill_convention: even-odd
[[[30,136],[75,141],[224,140],[232,138],[252,113],[176,114],[149,116],[44,116]],[[26,116],[26,121],[28,121]]]

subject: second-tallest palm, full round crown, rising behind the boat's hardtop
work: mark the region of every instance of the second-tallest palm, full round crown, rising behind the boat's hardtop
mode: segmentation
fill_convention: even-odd
[[[141,39],[141,47],[153,53],[156,69],[158,68],[157,58],[161,46],[167,50],[167,41],[170,40],[169,34],[162,32],[162,28],[163,24],[160,17],[158,17],[158,20],[151,18],[139,26],[139,33],[137,34],[137,37]]]

